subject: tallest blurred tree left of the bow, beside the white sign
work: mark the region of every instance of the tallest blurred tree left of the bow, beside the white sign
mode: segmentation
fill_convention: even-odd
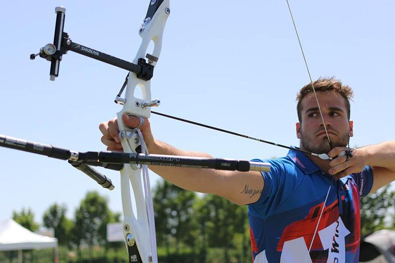
[[[112,218],[107,199],[95,191],[88,192],[75,210],[72,240],[78,251],[83,242],[88,245],[92,258],[93,246],[106,244],[106,226]]]

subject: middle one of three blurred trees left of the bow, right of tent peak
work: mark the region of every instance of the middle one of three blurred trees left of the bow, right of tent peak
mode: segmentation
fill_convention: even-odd
[[[51,205],[42,216],[43,226],[53,228],[60,245],[69,245],[72,222],[66,218],[66,205]]]

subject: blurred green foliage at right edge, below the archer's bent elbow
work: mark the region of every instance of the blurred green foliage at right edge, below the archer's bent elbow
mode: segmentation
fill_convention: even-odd
[[[387,185],[376,192],[360,199],[361,236],[366,236],[374,231],[392,228],[388,223],[390,214],[393,213],[395,191]]]

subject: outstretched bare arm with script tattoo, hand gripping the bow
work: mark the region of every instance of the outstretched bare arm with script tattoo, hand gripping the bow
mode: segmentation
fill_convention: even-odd
[[[134,116],[122,115],[126,126],[138,126],[139,119]],[[107,150],[122,150],[118,138],[117,120],[100,123],[99,129],[103,134],[101,141],[107,145]],[[164,142],[155,140],[150,130],[149,121],[145,119],[140,127],[148,151],[151,154],[180,155],[213,158],[206,153],[190,152],[177,149]],[[221,171],[199,168],[177,168],[164,166],[149,166],[149,169],[165,180],[183,189],[209,193],[229,199],[239,205],[256,202],[263,190],[263,178],[259,172]]]

